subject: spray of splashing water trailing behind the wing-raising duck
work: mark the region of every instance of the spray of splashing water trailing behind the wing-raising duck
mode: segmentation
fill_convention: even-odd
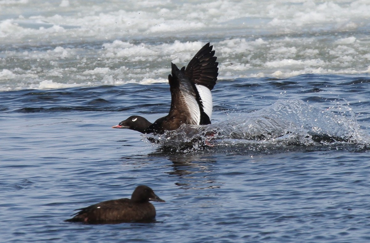
[[[215,150],[276,153],[296,150],[367,151],[370,135],[349,107],[322,109],[302,100],[278,100],[248,114],[206,126],[184,125],[163,135],[144,135],[161,151]]]

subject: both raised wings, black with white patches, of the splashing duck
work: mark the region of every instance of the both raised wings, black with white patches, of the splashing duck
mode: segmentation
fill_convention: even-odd
[[[188,66],[178,69],[171,63],[168,76],[171,90],[169,118],[182,117],[186,124],[205,125],[211,123],[212,94],[218,76],[218,63],[212,46],[202,47]]]

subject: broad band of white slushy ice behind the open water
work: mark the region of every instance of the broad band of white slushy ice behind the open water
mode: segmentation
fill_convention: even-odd
[[[0,0],[0,90],[165,82],[210,41],[219,79],[370,71],[370,2]]]

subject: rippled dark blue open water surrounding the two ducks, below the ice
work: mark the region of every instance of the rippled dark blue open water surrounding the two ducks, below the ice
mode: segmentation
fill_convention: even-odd
[[[166,83],[1,92],[1,242],[369,242],[369,85],[368,74],[219,80],[213,128],[252,133],[250,119],[267,119],[290,133],[185,152],[176,137],[168,149],[111,129],[166,114]],[[166,200],[157,222],[63,222],[138,184]]]

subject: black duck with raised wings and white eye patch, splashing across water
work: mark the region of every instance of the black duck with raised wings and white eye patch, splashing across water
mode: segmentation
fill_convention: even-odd
[[[176,130],[181,124],[211,124],[212,94],[218,76],[217,57],[213,46],[205,44],[191,59],[188,66],[178,69],[171,63],[168,75],[171,108],[167,116],[154,123],[141,116],[130,116],[112,128],[128,128],[141,133],[163,134]]]

